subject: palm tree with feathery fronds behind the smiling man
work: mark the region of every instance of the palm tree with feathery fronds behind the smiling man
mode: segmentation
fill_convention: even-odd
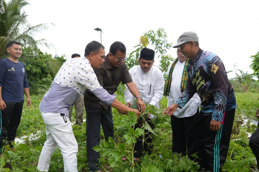
[[[22,11],[25,5],[29,5],[27,0],[11,0],[8,3],[0,0],[0,60],[7,55],[6,45],[10,41],[21,42],[24,47],[30,46],[35,52],[38,52],[39,45],[53,47],[45,39],[34,39],[35,33],[48,29],[48,26],[28,24],[28,15]]]

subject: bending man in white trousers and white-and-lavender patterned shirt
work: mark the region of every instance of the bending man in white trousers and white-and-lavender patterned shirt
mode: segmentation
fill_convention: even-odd
[[[68,119],[69,110],[75,101],[87,89],[94,93],[102,103],[111,105],[119,110],[134,111],[115,99],[98,83],[93,68],[103,65],[105,56],[104,46],[97,41],[87,44],[84,58],[67,60],[59,69],[48,92],[39,104],[42,119],[46,125],[46,142],[41,150],[37,168],[48,171],[50,158],[59,146],[64,171],[77,172],[77,141]]]

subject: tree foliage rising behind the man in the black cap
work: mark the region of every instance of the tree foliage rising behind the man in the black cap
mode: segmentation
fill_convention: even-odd
[[[156,32],[154,30],[149,30],[148,32],[143,33],[143,36],[140,37],[139,45],[134,47],[137,49],[130,53],[129,58],[126,61],[128,69],[139,65],[138,58],[140,51],[149,44],[155,46],[154,51],[156,54],[159,54],[158,58],[161,59],[159,61],[159,68],[163,72],[164,77],[167,78],[167,68],[170,62],[173,62],[174,58],[167,54],[167,50],[172,48],[172,44],[167,42],[167,34],[163,28],[159,28]]]

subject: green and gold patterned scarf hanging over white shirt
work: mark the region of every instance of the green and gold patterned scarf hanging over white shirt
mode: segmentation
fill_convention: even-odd
[[[187,77],[188,77],[188,73],[187,73],[187,68],[188,68],[188,63],[189,59],[186,60],[185,62],[185,66],[184,66],[184,71],[183,71],[183,77],[182,77],[182,82],[181,82],[181,92],[184,92],[184,90],[186,89],[186,85],[187,85]],[[171,87],[171,82],[172,82],[172,74],[173,74],[173,69],[175,68],[175,64],[178,62],[178,57],[175,59],[175,61],[173,62],[168,77],[167,77],[167,82],[165,84],[165,89],[164,89],[164,95],[165,96],[169,96],[169,92],[170,92],[170,87]]]

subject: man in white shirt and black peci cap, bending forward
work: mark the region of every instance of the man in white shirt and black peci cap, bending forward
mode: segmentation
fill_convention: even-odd
[[[140,52],[140,58],[139,58],[139,66],[134,66],[131,69],[129,69],[129,73],[131,75],[131,78],[133,82],[135,83],[139,94],[143,98],[143,101],[147,104],[154,105],[156,107],[159,106],[159,101],[163,97],[163,90],[164,90],[164,76],[162,74],[162,71],[158,67],[153,66],[154,64],[154,56],[155,52],[154,50],[143,48]],[[125,85],[124,90],[124,96],[125,101],[127,103],[127,106],[129,106],[131,103],[130,101],[133,101],[135,97],[131,94],[128,87]],[[148,116],[148,124],[152,129],[155,128],[155,126],[150,122],[150,120],[154,118],[153,114],[150,114]],[[135,124],[135,129],[138,127],[141,127],[141,123]],[[152,138],[150,137],[150,132],[145,130],[145,142],[143,147],[143,138],[140,136],[137,139],[137,142],[135,143],[134,150],[136,152],[134,153],[134,160],[139,161],[140,157],[143,156],[143,151],[148,152],[148,154],[151,154],[151,151],[153,149]]]

